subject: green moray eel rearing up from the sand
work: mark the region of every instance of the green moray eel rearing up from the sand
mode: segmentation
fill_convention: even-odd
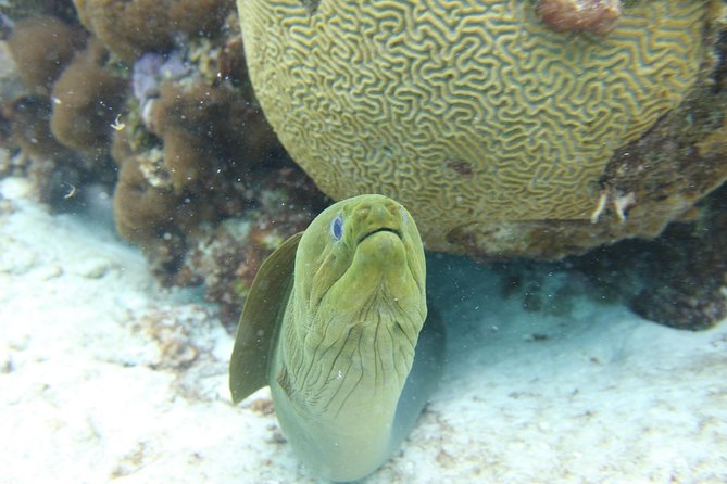
[[[425,278],[403,206],[383,195],[331,205],[261,266],[229,364],[233,400],[270,385],[314,473],[346,482],[375,471],[439,379],[443,331],[427,317]]]

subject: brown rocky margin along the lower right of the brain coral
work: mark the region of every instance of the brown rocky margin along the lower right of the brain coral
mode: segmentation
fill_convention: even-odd
[[[599,180],[601,195],[590,220],[501,222],[484,232],[459,228],[451,235],[484,258],[559,259],[635,235],[654,238],[668,222],[693,217],[694,204],[727,177],[727,86],[717,77],[710,80],[647,135],[616,151]]]

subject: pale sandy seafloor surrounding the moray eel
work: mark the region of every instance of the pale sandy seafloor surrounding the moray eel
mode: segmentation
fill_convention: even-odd
[[[108,222],[27,191],[0,183],[0,483],[316,482],[267,390],[230,405],[214,308],[160,289]],[[473,264],[431,262],[446,377],[367,483],[727,482],[727,323],[587,300],[528,314]]]

